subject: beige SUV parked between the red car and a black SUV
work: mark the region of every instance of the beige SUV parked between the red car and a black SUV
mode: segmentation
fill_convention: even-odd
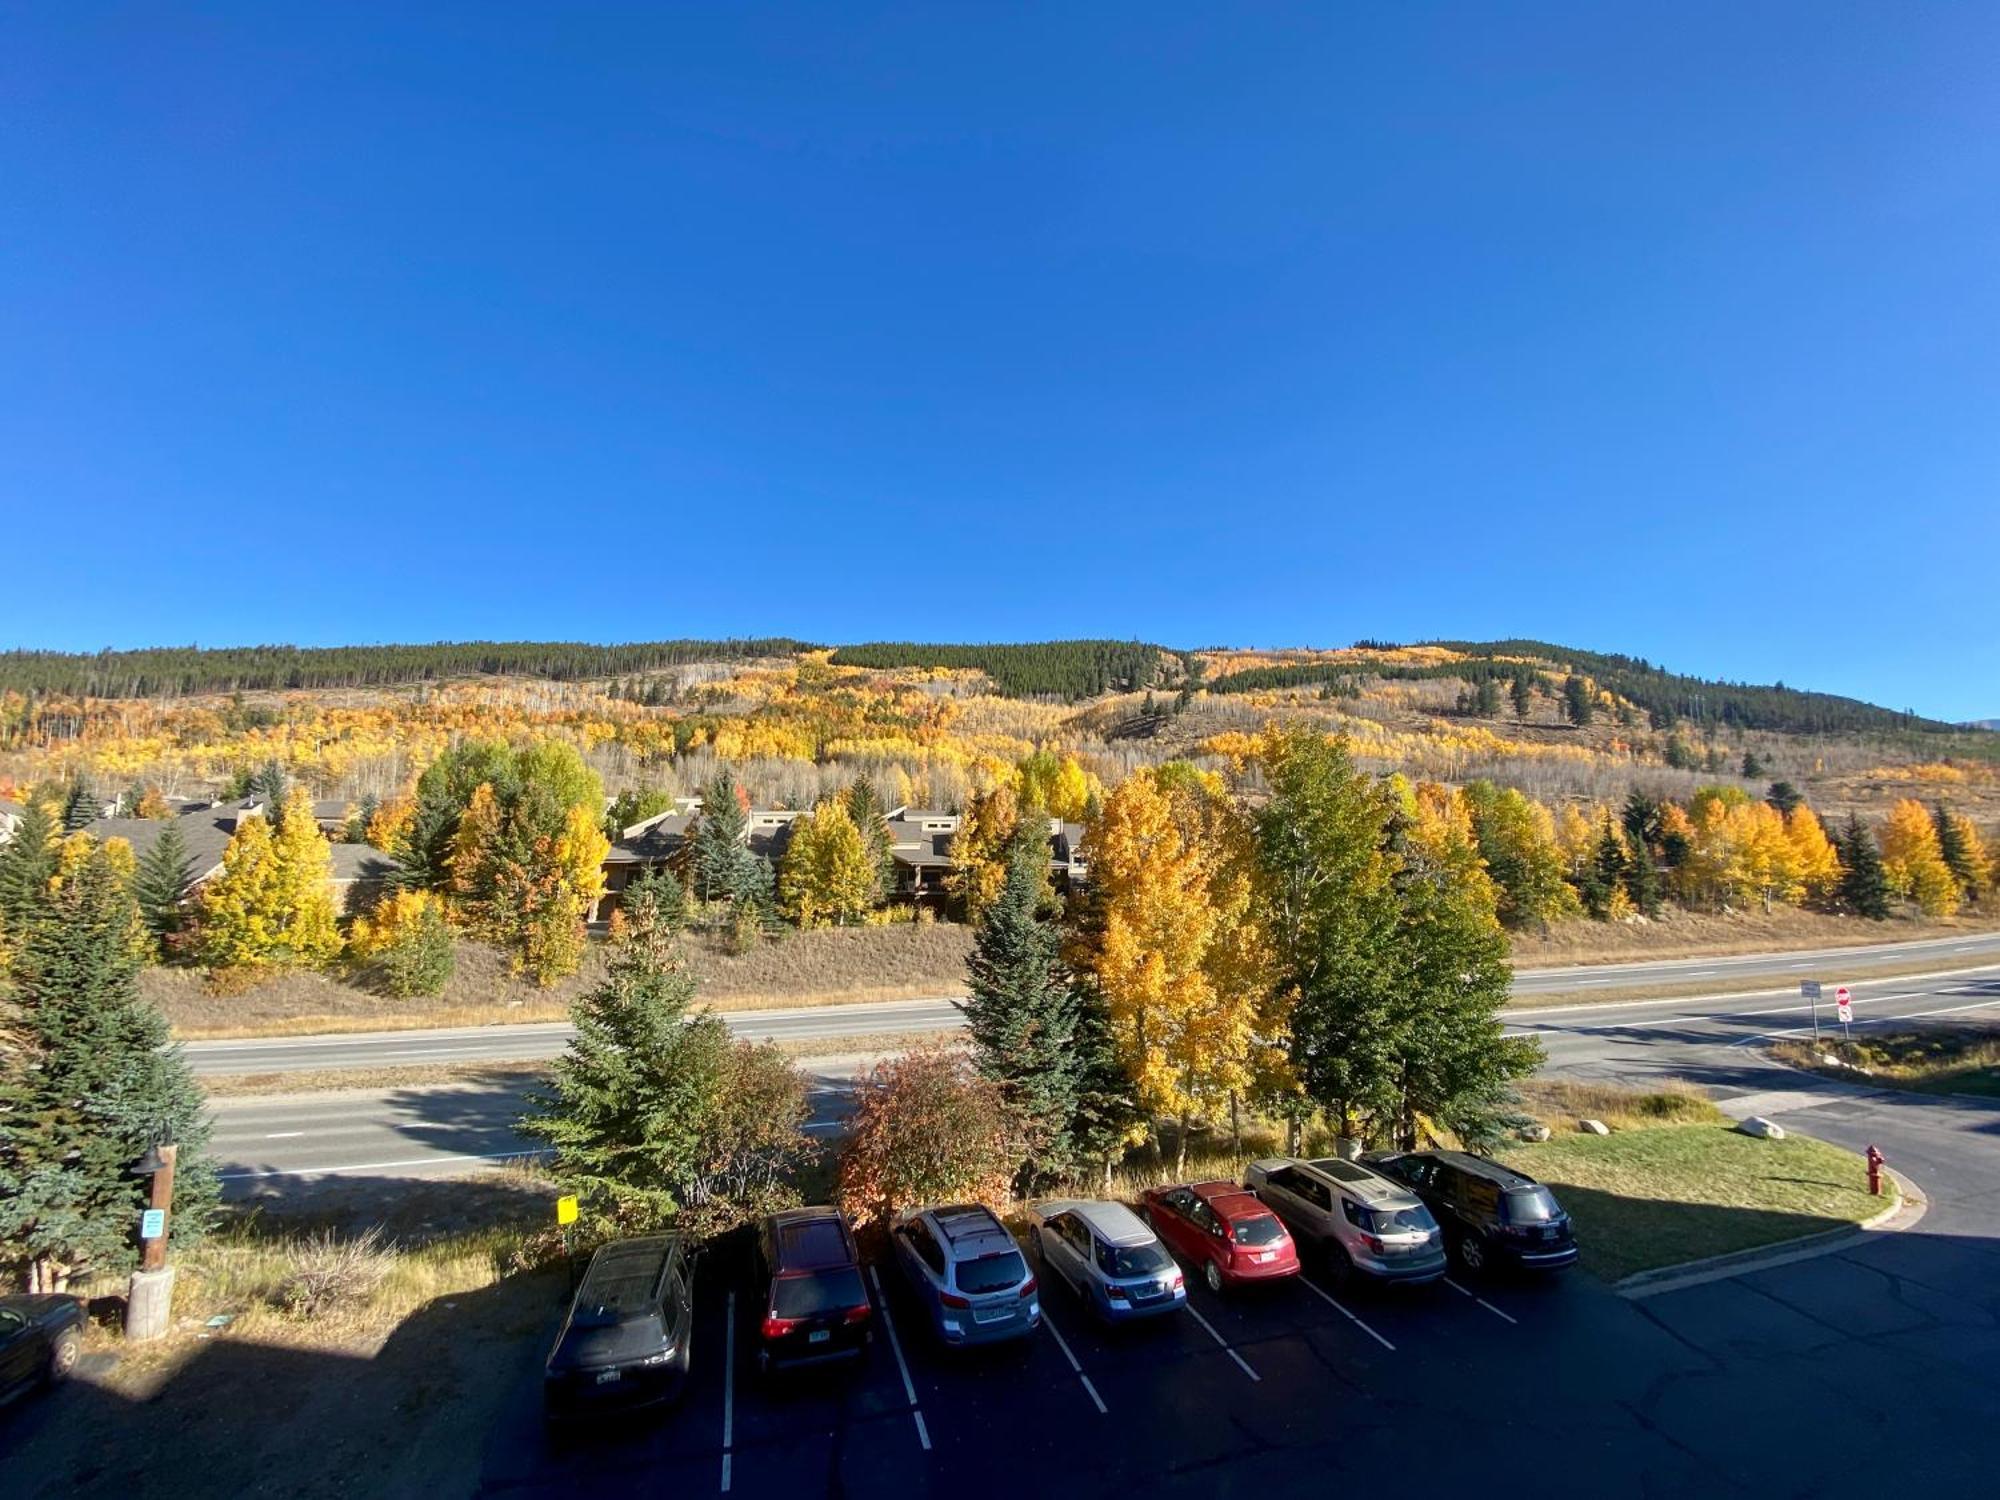
[[[1250,1162],[1244,1186],[1336,1276],[1434,1282],[1446,1272],[1444,1234],[1422,1198],[1358,1162],[1268,1156]]]

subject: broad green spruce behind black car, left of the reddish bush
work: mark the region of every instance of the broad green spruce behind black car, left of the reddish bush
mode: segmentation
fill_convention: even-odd
[[[522,1120],[554,1146],[556,1178],[624,1224],[688,1206],[730,1048],[714,1012],[688,1014],[694,976],[672,908],[650,874],[626,886],[604,982],[572,1006],[576,1036]]]

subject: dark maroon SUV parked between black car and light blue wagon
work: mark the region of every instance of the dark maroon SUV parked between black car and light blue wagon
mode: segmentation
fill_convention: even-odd
[[[862,1256],[838,1208],[788,1208],[758,1226],[758,1370],[858,1358],[874,1338]]]

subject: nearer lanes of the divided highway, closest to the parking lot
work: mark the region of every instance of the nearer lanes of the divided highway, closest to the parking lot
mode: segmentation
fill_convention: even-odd
[[[1864,1028],[1912,1016],[1992,1010],[2000,1004],[2000,968],[1856,984],[1854,996]],[[926,1004],[932,1002],[868,1010],[910,1014],[912,1006]],[[800,1018],[812,1012],[766,1014]],[[1822,1016],[1832,1024],[1832,1006],[1822,1006]],[[1744,1042],[1810,1030],[1810,1010],[1796,996],[1522,1008],[1512,1012],[1512,1020],[1516,1034],[1542,1040],[1550,1072],[1626,1082],[1680,1076],[1708,1084],[1724,1098],[1758,1092],[1772,1078]],[[884,1020],[880,1030],[910,1026]],[[840,1034],[848,1034],[846,1028]],[[838,1118],[842,1094],[860,1066],[820,1064],[814,1088],[822,1128]],[[1768,1086],[1790,1098],[1794,1082],[1790,1074],[1776,1074]],[[534,1142],[514,1128],[522,1106],[522,1090],[514,1084],[222,1098],[214,1104],[214,1144],[224,1162],[224,1188],[236,1196],[292,1190],[298,1178],[326,1174],[440,1176],[532,1150]]]

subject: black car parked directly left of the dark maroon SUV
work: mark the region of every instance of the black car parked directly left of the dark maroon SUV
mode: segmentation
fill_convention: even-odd
[[[548,1352],[550,1420],[672,1400],[688,1378],[694,1266],[676,1234],[614,1240],[590,1258]]]

